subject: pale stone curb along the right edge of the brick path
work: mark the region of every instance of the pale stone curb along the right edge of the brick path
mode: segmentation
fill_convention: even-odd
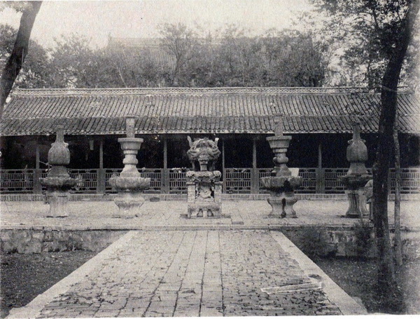
[[[283,233],[270,231],[271,236],[281,248],[290,254],[297,261],[304,273],[317,275],[322,280],[322,290],[325,296],[335,304],[343,315],[367,315],[367,311],[360,306],[353,298],[346,294],[326,273],[324,273],[314,262],[297,248]]]

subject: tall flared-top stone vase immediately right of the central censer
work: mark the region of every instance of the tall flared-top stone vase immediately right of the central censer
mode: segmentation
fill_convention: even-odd
[[[296,218],[296,212],[293,209],[293,205],[297,202],[295,189],[302,184],[302,177],[292,176],[292,172],[286,165],[288,163],[286,152],[292,137],[283,135],[281,117],[275,118],[275,125],[275,135],[267,137],[269,147],[275,155],[273,158],[275,166],[269,177],[261,177],[260,180],[262,187],[270,192],[267,201],[272,206],[272,211],[269,217]]]

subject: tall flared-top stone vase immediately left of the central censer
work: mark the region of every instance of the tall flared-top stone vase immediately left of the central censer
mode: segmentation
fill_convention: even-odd
[[[134,116],[127,116],[127,137],[118,139],[125,158],[123,159],[123,172],[118,177],[111,177],[109,184],[118,191],[118,197],[114,203],[119,208],[115,217],[133,218],[139,216],[139,208],[144,203],[143,191],[151,185],[150,178],[141,177],[137,170],[137,152],[139,151],[142,138],[134,137]]]

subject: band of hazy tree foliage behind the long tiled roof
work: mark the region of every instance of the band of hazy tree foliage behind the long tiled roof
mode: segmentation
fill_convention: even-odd
[[[0,28],[0,63],[10,55],[16,31]],[[22,88],[132,88],[157,86],[322,86],[328,45],[313,34],[268,30],[264,36],[228,25],[214,34],[182,24],[161,26],[157,46],[109,43],[70,34],[33,53],[16,81]]]

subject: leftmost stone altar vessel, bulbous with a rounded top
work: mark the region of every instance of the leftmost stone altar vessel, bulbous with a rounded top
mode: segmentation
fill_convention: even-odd
[[[70,163],[69,144],[64,142],[64,126],[57,126],[57,137],[48,151],[48,163],[51,169],[47,177],[41,178],[42,185],[47,186],[48,203],[50,203],[49,217],[66,217],[67,203],[69,202],[69,190],[80,179],[71,178],[66,165]]]

